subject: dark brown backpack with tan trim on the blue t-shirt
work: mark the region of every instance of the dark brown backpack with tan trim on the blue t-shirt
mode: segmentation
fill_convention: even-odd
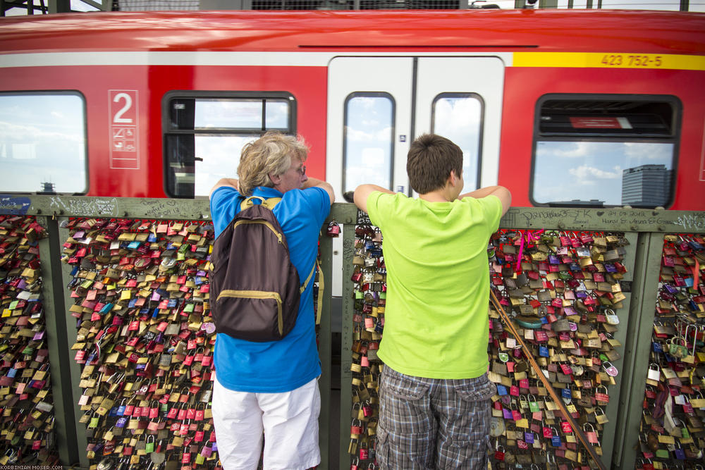
[[[263,342],[281,340],[294,328],[316,266],[301,285],[272,212],[279,201],[248,197],[214,242],[210,294],[217,333]]]

